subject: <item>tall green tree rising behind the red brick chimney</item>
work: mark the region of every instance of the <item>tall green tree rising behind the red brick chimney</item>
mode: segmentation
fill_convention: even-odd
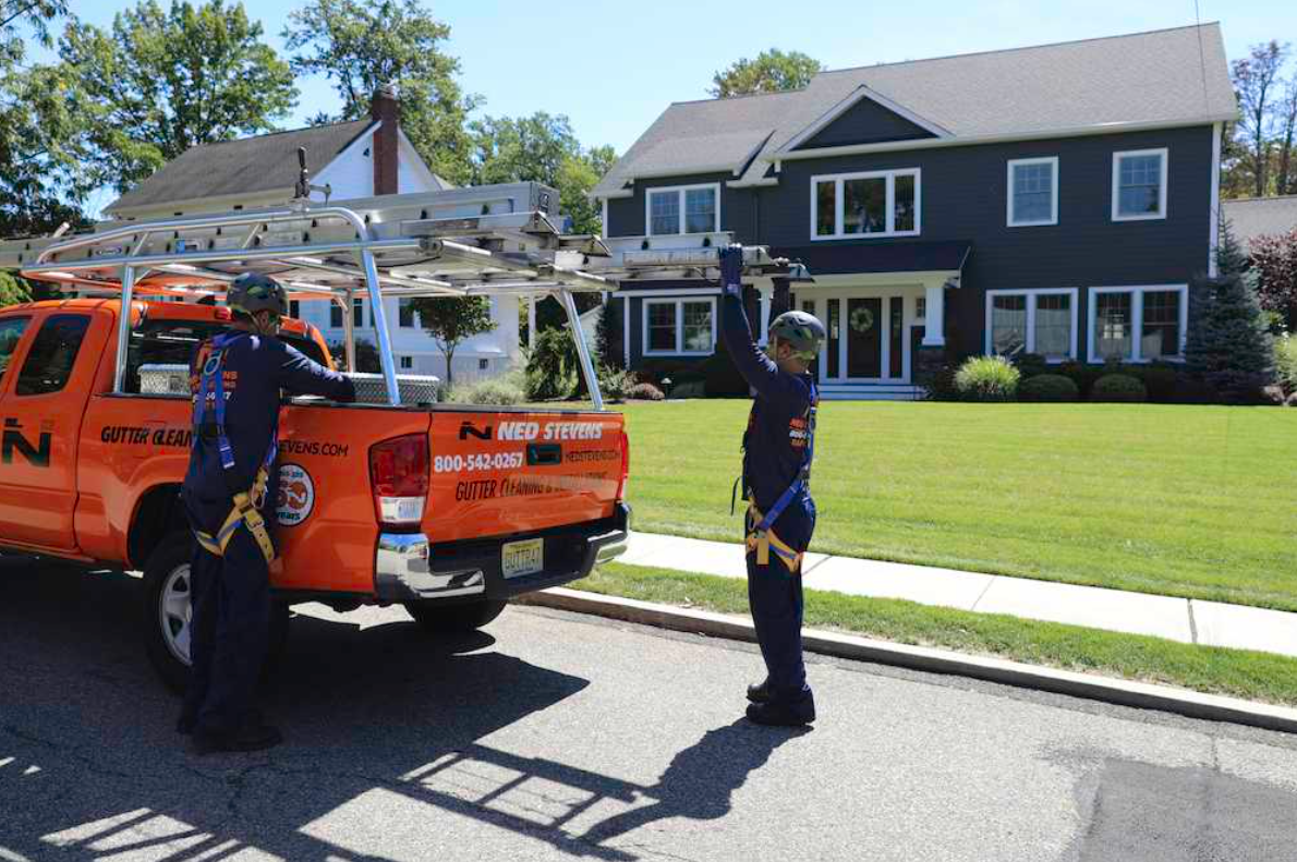
[[[392,84],[401,100],[401,128],[438,175],[463,184],[472,176],[468,114],[481,104],[455,75],[459,60],[445,53],[450,27],[419,0],[311,0],[289,16],[283,32],[293,71],[324,75],[342,100],[340,115],[315,123],[359,119],[370,99]]]

